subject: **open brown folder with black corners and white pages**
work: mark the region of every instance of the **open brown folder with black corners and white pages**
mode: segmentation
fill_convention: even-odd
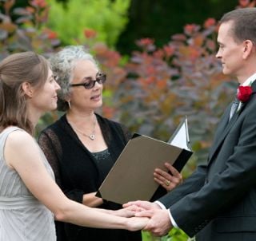
[[[169,162],[181,171],[192,153],[186,118],[167,143],[135,133],[96,196],[121,204],[131,200],[150,200],[159,186],[154,181],[154,169],[166,170],[164,163]]]

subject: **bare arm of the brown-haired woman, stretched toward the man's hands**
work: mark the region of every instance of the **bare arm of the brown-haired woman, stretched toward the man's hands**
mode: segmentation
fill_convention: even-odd
[[[54,213],[55,219],[86,227],[130,231],[146,226],[146,218],[125,218],[69,200],[55,184],[42,161],[38,144],[26,132],[12,132],[6,140],[6,164],[14,168],[33,195]]]

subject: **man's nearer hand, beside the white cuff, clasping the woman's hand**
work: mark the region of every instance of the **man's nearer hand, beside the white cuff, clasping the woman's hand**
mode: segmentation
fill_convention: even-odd
[[[166,235],[173,228],[168,210],[151,209],[137,212],[135,215],[150,218],[143,230],[150,231],[154,236]]]

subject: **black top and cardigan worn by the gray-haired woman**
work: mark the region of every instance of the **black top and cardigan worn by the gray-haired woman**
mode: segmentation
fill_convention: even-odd
[[[57,184],[66,196],[78,203],[82,203],[83,194],[98,191],[106,174],[131,137],[130,132],[123,125],[99,115],[96,117],[107,145],[107,149],[102,153],[91,153],[82,144],[67,122],[66,115],[43,130],[38,139],[39,145],[54,169]],[[157,197],[164,193],[163,190],[158,191]],[[99,207],[116,210],[122,206],[106,202]],[[140,231],[79,227],[60,222],[56,222],[56,229],[58,241],[98,241],[106,238],[112,241],[142,240]]]

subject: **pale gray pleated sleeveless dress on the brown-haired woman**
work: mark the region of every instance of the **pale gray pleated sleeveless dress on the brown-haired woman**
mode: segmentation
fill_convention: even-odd
[[[9,168],[4,160],[6,138],[17,130],[22,129],[9,127],[0,134],[0,241],[55,241],[54,215],[32,195],[18,172]],[[54,179],[39,146],[38,150]]]

